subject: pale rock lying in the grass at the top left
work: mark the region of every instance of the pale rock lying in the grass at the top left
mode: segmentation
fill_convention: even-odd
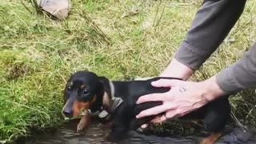
[[[38,0],[38,6],[55,18],[63,20],[70,12],[71,2],[70,0]]]

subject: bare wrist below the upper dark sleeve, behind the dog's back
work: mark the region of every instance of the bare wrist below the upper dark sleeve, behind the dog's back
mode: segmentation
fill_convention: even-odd
[[[166,69],[163,70],[162,74],[160,74],[160,77],[173,77],[187,80],[192,74],[194,74],[194,70],[173,58]]]

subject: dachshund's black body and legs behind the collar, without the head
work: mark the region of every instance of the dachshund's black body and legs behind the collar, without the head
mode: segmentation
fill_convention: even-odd
[[[113,127],[119,127],[119,130],[137,129],[139,126],[145,123],[149,123],[155,116],[153,115],[146,118],[136,119],[135,116],[139,114],[142,110],[152,108],[154,106],[162,105],[162,102],[145,102],[139,105],[136,105],[136,101],[139,97],[145,94],[154,94],[154,93],[165,93],[170,90],[169,87],[154,87],[151,86],[151,82],[154,82],[160,78],[150,78],[147,80],[137,80],[130,82],[114,82],[116,97],[121,97],[123,99],[123,104],[116,110],[114,117],[115,122]],[[178,79],[178,78],[168,78],[168,79]],[[182,119],[198,119],[204,120],[206,129],[210,133],[221,132],[227,120],[230,117],[230,103],[228,97],[218,98],[213,102],[202,106],[198,110],[191,112],[182,116]],[[121,128],[122,127],[122,128]],[[122,138],[122,131],[116,131],[116,136]]]

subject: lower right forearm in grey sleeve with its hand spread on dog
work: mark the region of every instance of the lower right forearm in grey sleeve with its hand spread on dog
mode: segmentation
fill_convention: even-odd
[[[256,86],[256,43],[238,62],[205,81],[185,82],[162,79],[152,82],[152,85],[171,87],[171,90],[163,94],[148,94],[138,98],[137,104],[152,101],[160,101],[163,104],[142,111],[137,118],[162,112],[166,114],[155,118],[153,122],[164,122],[166,118],[181,117],[216,98]]]

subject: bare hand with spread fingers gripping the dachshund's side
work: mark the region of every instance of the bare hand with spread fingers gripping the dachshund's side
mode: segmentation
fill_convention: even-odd
[[[143,118],[166,112],[166,114],[154,118],[152,121],[154,123],[165,122],[167,119],[181,117],[223,95],[222,90],[217,85],[215,77],[204,82],[160,79],[156,82],[152,82],[152,86],[171,87],[166,93],[147,94],[138,98],[137,104],[143,102],[163,102],[161,106],[144,110],[136,116],[136,118]]]

